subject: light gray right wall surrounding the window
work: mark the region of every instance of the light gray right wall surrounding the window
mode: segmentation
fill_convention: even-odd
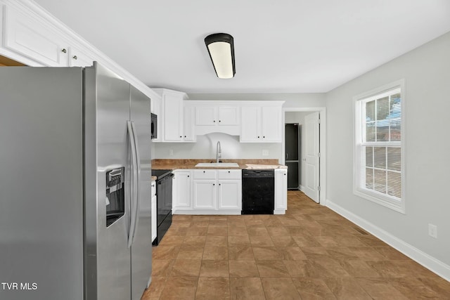
[[[450,265],[450,33],[326,95],[327,200]],[[406,214],[352,192],[352,97],[405,79]],[[328,203],[327,202],[327,203]],[[437,225],[438,238],[428,235]],[[447,269],[448,271],[448,269]]]

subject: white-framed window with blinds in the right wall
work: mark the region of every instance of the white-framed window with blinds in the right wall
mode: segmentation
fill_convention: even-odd
[[[404,212],[404,81],[356,96],[354,193]]]

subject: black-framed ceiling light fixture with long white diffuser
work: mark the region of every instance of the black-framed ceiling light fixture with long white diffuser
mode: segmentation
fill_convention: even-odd
[[[205,44],[217,77],[233,78],[236,74],[233,37],[226,33],[214,33],[205,37]]]

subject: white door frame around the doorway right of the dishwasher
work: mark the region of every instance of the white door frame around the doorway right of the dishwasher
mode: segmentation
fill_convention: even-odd
[[[319,112],[321,123],[319,129],[319,149],[321,157],[319,158],[319,182],[321,190],[319,191],[319,203],[326,205],[326,107],[283,107],[283,133],[281,135],[281,164],[285,164],[285,112]]]

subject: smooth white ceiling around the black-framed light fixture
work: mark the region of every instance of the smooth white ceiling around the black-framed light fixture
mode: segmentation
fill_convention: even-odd
[[[326,92],[450,31],[449,0],[36,0],[152,87]],[[234,37],[218,79],[203,39]]]

